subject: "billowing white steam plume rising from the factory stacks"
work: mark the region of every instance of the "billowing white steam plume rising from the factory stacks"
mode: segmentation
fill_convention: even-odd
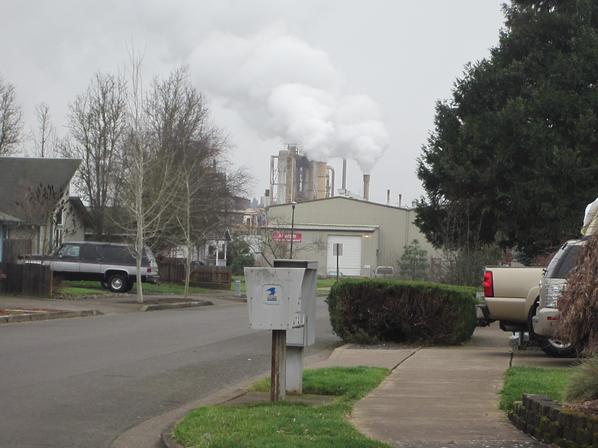
[[[212,32],[190,60],[201,67],[202,90],[224,99],[264,137],[301,143],[313,161],[351,158],[370,173],[388,146],[377,104],[344,94],[344,77],[328,54],[282,23],[245,37]]]

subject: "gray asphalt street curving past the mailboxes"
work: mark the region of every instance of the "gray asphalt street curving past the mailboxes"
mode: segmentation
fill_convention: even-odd
[[[108,447],[117,435],[270,368],[247,305],[0,326],[0,447]],[[316,344],[338,345],[324,297]]]

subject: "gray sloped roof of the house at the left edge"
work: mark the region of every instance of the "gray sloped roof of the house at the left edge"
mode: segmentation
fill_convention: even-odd
[[[81,159],[0,157],[0,213],[38,223],[17,202],[29,200],[29,188],[51,188],[55,195],[65,192],[80,164]]]

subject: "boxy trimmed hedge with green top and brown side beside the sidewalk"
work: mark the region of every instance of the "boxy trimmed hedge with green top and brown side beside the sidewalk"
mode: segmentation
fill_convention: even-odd
[[[475,289],[420,281],[347,279],[328,298],[332,330],[344,342],[456,345],[475,330]]]

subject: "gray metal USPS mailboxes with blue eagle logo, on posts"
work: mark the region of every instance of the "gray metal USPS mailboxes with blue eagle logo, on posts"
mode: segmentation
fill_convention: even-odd
[[[273,264],[273,268],[245,268],[245,283],[249,327],[273,330],[270,397],[277,401],[303,389],[303,348],[316,339],[318,262],[274,260]],[[278,335],[280,330],[283,335]]]

